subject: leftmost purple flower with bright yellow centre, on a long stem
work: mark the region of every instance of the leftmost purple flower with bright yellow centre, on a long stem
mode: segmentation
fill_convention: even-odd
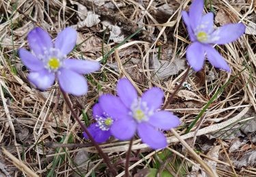
[[[32,54],[20,48],[18,53],[23,63],[31,70],[29,80],[41,90],[51,87],[55,78],[66,93],[87,93],[87,81],[81,74],[100,69],[100,63],[87,60],[67,59],[67,54],[76,44],[76,31],[71,27],[57,35],[55,44],[46,31],[36,27],[29,32],[28,41]]]

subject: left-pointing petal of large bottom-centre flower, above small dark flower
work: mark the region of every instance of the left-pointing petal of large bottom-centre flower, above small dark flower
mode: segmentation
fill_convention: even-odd
[[[102,110],[115,119],[122,119],[128,115],[128,108],[126,108],[124,103],[114,95],[101,95],[99,97],[99,103]]]

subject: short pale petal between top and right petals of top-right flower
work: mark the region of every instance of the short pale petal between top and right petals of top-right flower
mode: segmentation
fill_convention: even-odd
[[[212,33],[213,30],[214,30],[214,14],[212,12],[209,12],[202,17],[201,22],[197,27],[197,31],[204,31],[207,34],[210,34]]]

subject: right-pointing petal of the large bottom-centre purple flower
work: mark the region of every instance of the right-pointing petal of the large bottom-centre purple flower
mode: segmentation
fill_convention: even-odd
[[[171,129],[180,125],[180,118],[168,111],[159,111],[150,116],[149,123],[160,129]]]

